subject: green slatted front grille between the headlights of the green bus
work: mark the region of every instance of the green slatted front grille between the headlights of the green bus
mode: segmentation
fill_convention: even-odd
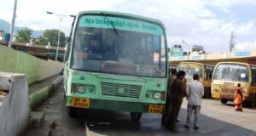
[[[112,82],[101,82],[102,95],[139,99],[142,86],[120,84]]]

